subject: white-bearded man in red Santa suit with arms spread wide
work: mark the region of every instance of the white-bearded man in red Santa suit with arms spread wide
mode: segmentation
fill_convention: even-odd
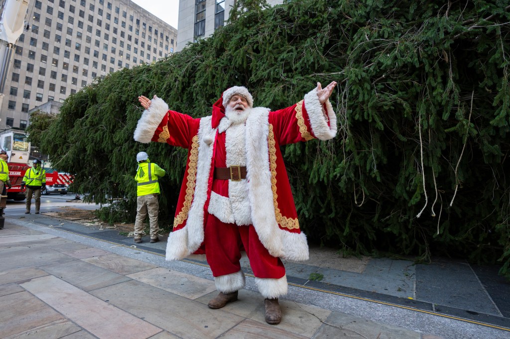
[[[288,288],[281,259],[308,260],[309,251],[279,146],[335,137],[328,100],[335,86],[317,83],[303,100],[275,111],[253,107],[248,90],[236,86],[205,118],[169,110],[157,96],[138,98],[145,110],[135,140],[188,149],[166,260],[205,254],[220,292],[209,307],[237,300],[245,284],[239,263],[245,251],[265,298],[266,322],[281,321],[278,297]]]

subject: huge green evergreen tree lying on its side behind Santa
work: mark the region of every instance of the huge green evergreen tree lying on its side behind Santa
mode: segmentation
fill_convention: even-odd
[[[506,1],[237,6],[213,36],[71,95],[44,133],[31,126],[33,140],[94,201],[123,199],[110,218],[134,216],[146,150],[167,170],[160,220],[172,224],[186,151],[134,142],[139,95],[201,117],[234,85],[283,108],[336,80],[338,137],[284,149],[309,239],[347,253],[500,259],[510,276]]]

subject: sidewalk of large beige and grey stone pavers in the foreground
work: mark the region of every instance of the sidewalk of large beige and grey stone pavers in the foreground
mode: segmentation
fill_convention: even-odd
[[[435,338],[288,300],[268,325],[259,293],[213,310],[210,279],[9,222],[0,255],[2,338]]]

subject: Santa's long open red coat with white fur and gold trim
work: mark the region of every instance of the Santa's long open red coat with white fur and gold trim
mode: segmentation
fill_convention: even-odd
[[[252,108],[245,125],[246,180],[253,227],[272,256],[292,261],[308,259],[308,244],[299,229],[278,146],[313,138],[327,140],[336,135],[335,112],[329,102],[322,105],[316,93],[313,90],[304,100],[281,110]],[[200,246],[213,183],[214,140],[223,118],[218,107],[215,108],[212,116],[194,119],[168,110],[162,99],[155,98],[135,130],[135,140],[139,142],[160,142],[188,149],[173,232],[166,248],[167,260],[203,253]]]

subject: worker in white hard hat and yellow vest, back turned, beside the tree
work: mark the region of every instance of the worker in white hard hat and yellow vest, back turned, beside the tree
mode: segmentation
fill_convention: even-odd
[[[142,242],[143,236],[143,220],[149,214],[150,222],[150,242],[158,242],[158,213],[159,203],[158,194],[160,187],[158,178],[165,175],[165,170],[150,162],[149,156],[145,152],[136,155],[138,168],[136,170],[135,180],[137,182],[137,208],[135,221],[135,242]]]

